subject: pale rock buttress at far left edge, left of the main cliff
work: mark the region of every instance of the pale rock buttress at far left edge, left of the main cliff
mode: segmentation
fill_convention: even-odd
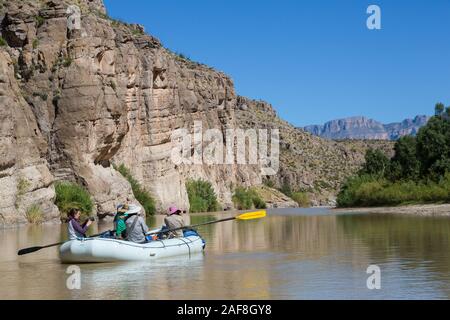
[[[11,58],[0,51],[0,225],[26,223],[39,206],[45,220],[59,217],[46,143],[14,79]]]

